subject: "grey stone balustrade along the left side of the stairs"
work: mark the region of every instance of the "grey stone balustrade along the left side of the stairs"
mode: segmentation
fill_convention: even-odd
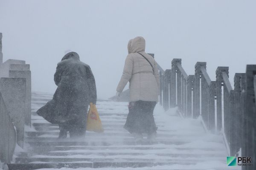
[[[31,125],[31,71],[24,60],[3,62],[0,33],[0,160],[9,163],[16,142],[23,147],[24,127]]]

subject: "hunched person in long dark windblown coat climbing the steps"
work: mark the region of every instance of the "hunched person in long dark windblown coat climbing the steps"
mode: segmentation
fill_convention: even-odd
[[[54,74],[58,88],[53,99],[37,111],[48,122],[58,124],[59,138],[84,136],[90,102],[96,104],[96,85],[90,66],[76,52],[67,53]]]

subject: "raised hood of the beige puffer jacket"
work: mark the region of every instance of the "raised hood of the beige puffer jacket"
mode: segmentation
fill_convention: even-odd
[[[145,39],[143,37],[135,37],[128,42],[128,54],[145,51]]]

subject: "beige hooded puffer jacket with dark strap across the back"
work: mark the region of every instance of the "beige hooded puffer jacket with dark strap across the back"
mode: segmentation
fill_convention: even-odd
[[[154,67],[154,74],[151,65],[138,52],[151,62]],[[127,82],[130,82],[130,102],[139,100],[158,102],[160,82],[157,62],[145,53],[143,37],[136,37],[128,42],[128,56],[116,91],[122,92]]]

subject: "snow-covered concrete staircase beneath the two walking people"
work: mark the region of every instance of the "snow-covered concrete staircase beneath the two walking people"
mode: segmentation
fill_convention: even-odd
[[[58,125],[36,115],[52,94],[32,93],[32,128],[26,128],[24,150],[17,150],[9,170],[40,168],[99,168],[141,170],[198,170],[227,168],[227,151],[220,135],[205,132],[198,119],[182,119],[157,105],[157,142],[134,142],[123,129],[128,103],[99,100],[104,133],[87,132],[83,140],[58,140]],[[211,170],[212,170],[211,169]]]

